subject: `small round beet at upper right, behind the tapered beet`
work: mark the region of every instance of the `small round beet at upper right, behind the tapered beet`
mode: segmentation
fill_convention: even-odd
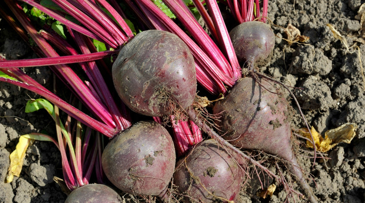
[[[251,68],[254,63],[264,61],[274,50],[275,35],[270,26],[263,22],[243,22],[233,28],[229,36],[238,61]]]

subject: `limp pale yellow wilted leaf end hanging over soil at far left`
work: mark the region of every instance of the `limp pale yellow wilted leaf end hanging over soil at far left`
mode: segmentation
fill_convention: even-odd
[[[20,136],[15,150],[10,154],[10,166],[8,168],[8,175],[6,176],[6,183],[12,182],[14,176],[20,175],[25,152],[27,151],[28,146],[32,145],[33,142],[33,139],[29,139],[23,135]]]

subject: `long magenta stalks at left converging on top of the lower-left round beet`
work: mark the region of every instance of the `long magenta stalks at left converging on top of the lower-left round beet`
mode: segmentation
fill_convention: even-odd
[[[77,51],[76,48],[70,45],[63,38],[51,34],[50,32],[52,31],[47,32],[46,30],[41,30],[40,32],[38,32],[29,21],[29,19],[25,16],[21,6],[17,2],[13,2],[11,0],[7,0],[5,2],[8,4],[13,14],[17,16],[19,22],[23,25],[25,30],[36,42],[37,47],[34,47],[34,49],[40,57],[56,57],[53,58],[53,60],[57,60],[57,58],[63,58],[62,62],[66,62],[67,60],[72,63],[80,61],[80,59],[83,61],[85,60],[84,55],[80,55],[79,51]],[[49,9],[42,7],[40,4],[37,4],[36,1],[29,1],[28,3],[35,7],[38,7],[39,9],[49,11],[49,15],[56,16],[55,12],[51,12]],[[65,1],[65,3],[69,4],[69,2],[67,1]],[[78,12],[76,12],[74,15],[77,16]],[[83,54],[87,54],[86,57],[90,57],[90,55],[96,55],[97,58],[100,58],[103,57],[102,55],[107,56],[113,54],[113,52],[111,51],[106,51],[102,54],[91,54],[91,52],[95,53],[96,49],[92,45],[90,38],[82,37],[80,34],[75,33],[71,29],[69,29],[69,33],[72,35],[72,38],[76,43],[76,47],[80,49]],[[87,33],[88,32],[86,32],[86,34]],[[102,33],[103,32],[98,34],[102,35]],[[67,56],[60,56],[61,54],[57,53],[54,47],[59,49],[62,55]],[[45,58],[36,60],[37,63],[34,63],[34,65],[32,66],[43,65],[43,63],[44,65],[52,63],[52,61],[47,61],[52,59],[43,59]],[[23,61],[23,63],[27,63],[27,60]],[[49,101],[57,105],[61,110],[65,111],[67,114],[71,115],[77,120],[80,120],[92,129],[95,129],[105,134],[108,137],[112,137],[114,134],[117,133],[117,131],[127,129],[131,125],[128,111],[123,104],[118,107],[116,105],[117,102],[111,99],[111,92],[109,91],[109,88],[107,87],[107,84],[99,71],[99,66],[101,66],[102,68],[106,68],[106,64],[102,61],[98,61],[99,65],[97,65],[95,61],[93,61],[93,59],[91,59],[91,61],[89,62],[82,62],[79,64],[89,77],[92,86],[88,87],[88,83],[84,83],[84,81],[82,81],[80,77],[75,74],[71,66],[67,64],[60,64],[60,62],[57,62],[50,66],[50,68],[65,83],[65,85],[67,85],[75,93],[75,95],[77,95],[77,97],[88,107],[88,109],[97,118],[97,120],[91,118],[90,116],[87,116],[81,111],[76,110],[74,107],[58,98],[54,93],[48,91],[32,78],[21,72],[18,68],[16,68],[17,66],[19,67],[19,65],[21,65],[21,63],[19,64],[19,61],[4,61],[0,64],[0,67],[3,67],[1,70],[4,70],[7,74],[17,78],[18,81],[10,81],[9,79],[5,78],[0,79],[5,82],[10,82],[12,84],[29,89],[33,92],[38,93],[39,95],[44,96]],[[28,64],[28,66],[31,66],[31,64]],[[118,103],[120,102],[118,101]]]

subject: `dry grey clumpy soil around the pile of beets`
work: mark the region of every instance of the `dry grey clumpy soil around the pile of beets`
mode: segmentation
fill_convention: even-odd
[[[296,87],[293,92],[309,124],[321,134],[344,123],[355,123],[358,127],[350,144],[341,143],[332,148],[323,154],[325,158],[318,158],[314,166],[313,159],[299,155],[301,165],[312,175],[310,185],[321,203],[365,202],[365,95],[361,69],[361,61],[365,61],[365,45],[356,42],[361,25],[355,19],[363,3],[365,0],[269,1],[268,18],[273,22],[276,44],[270,65],[261,67],[261,71]],[[340,40],[334,38],[328,23],[347,39],[349,46],[356,43],[358,49],[348,51]],[[289,24],[309,40],[290,45],[284,40],[287,38],[284,28]],[[1,56],[9,60],[36,57],[5,20],[0,21],[0,29]],[[25,71],[41,84],[52,84],[52,74],[45,67]],[[46,112],[24,113],[26,101],[31,98],[39,96],[0,83],[1,180],[6,177],[9,154],[20,135],[29,132],[55,134],[54,122]],[[295,103],[293,106],[298,112]],[[304,127],[298,113],[292,125],[293,129]],[[311,149],[302,147],[300,150]],[[287,174],[284,172],[284,175]],[[1,181],[0,202],[63,203],[67,196],[52,180],[54,176],[62,178],[59,151],[52,143],[36,141],[27,150],[20,177],[15,177],[10,184]],[[287,179],[290,181],[289,176]],[[264,180],[265,186],[272,182],[271,179]],[[249,179],[237,202],[286,201],[287,193],[280,185],[273,196],[266,199],[257,196],[260,189],[257,178]],[[294,201],[306,202],[297,197],[291,199]]]

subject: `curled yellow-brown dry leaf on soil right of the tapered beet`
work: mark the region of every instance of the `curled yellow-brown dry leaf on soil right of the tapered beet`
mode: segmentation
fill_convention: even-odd
[[[355,137],[355,129],[357,128],[356,124],[347,123],[336,129],[330,129],[325,132],[325,138],[320,135],[317,130],[313,127],[310,129],[310,132],[313,136],[315,147],[320,152],[327,152],[329,149],[335,147],[338,143],[345,142],[350,143],[351,140]],[[310,133],[308,129],[301,129],[300,134],[304,137],[310,139],[307,140],[307,147],[313,148],[313,144],[311,141]]]

